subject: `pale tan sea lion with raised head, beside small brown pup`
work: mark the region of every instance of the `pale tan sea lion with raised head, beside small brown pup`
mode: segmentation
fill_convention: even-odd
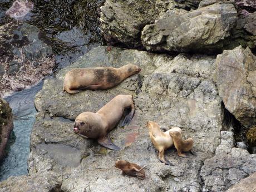
[[[173,138],[170,136],[169,132],[171,130],[181,132],[181,129],[179,127],[173,127],[168,131],[162,132],[160,126],[154,121],[148,121],[147,127],[149,128],[151,141],[159,152],[158,159],[167,165],[172,165],[165,159],[164,151],[174,144]]]

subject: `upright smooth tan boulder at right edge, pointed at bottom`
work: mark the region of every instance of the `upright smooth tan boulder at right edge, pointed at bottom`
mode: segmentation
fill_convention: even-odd
[[[224,51],[215,61],[215,81],[225,108],[245,127],[255,124],[256,57],[249,48]]]

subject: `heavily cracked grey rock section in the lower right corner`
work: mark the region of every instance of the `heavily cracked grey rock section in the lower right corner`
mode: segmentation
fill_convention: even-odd
[[[234,148],[232,135],[232,132],[221,132],[221,144],[215,156],[204,161],[200,171],[203,191],[225,191],[256,171],[256,154]]]

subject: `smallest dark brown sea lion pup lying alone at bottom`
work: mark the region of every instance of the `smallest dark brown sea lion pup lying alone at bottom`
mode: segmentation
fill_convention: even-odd
[[[147,166],[147,165],[146,165]],[[143,180],[145,179],[145,171],[143,170],[146,166],[141,168],[141,166],[130,163],[129,161],[118,160],[116,161],[115,167],[122,170],[122,175],[136,176],[137,178]]]

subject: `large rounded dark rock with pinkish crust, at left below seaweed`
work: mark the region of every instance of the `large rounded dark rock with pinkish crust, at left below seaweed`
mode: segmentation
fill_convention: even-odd
[[[40,29],[13,21],[0,31],[0,96],[34,85],[52,72],[52,48]]]

